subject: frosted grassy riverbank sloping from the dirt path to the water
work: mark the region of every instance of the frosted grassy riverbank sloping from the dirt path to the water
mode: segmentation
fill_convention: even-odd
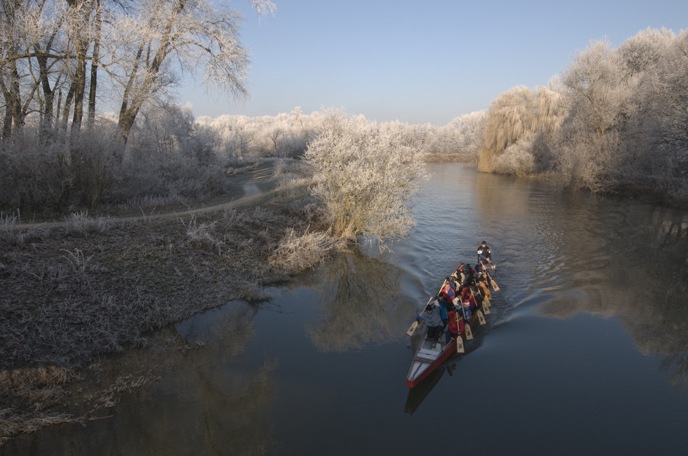
[[[233,299],[270,299],[265,286],[340,248],[319,233],[328,225],[305,190],[308,176],[286,174],[266,176],[271,192],[203,210],[6,225],[0,444],[94,418],[121,391],[155,380],[161,350],[191,350],[161,329]],[[131,348],[155,355],[133,367],[122,362]]]

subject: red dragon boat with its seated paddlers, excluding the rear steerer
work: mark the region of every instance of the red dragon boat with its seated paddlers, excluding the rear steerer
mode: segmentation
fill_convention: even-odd
[[[429,317],[406,377],[409,388],[418,385],[452,354],[463,353],[464,340],[473,339],[471,328],[476,321],[485,323],[483,314],[488,315],[491,306],[489,287],[492,286],[494,290],[499,290],[499,287],[482,264],[476,267],[479,269],[477,272],[470,265],[461,264],[451,277],[444,280],[440,293],[431,297],[424,312],[409,328],[407,334],[412,336],[418,323],[422,323],[420,317]],[[455,291],[457,289],[460,290],[458,293]],[[442,307],[446,310],[446,315],[442,312]],[[433,315],[433,312],[441,312],[446,317],[441,320],[441,330],[439,326],[430,326],[437,324],[437,315]],[[455,319],[455,324],[451,324],[450,318]]]

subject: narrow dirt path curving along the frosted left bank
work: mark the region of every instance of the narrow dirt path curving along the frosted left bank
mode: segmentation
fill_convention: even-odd
[[[252,172],[252,176],[246,183],[244,183],[244,196],[240,198],[233,199],[226,203],[221,203],[213,206],[198,207],[197,209],[189,209],[186,211],[178,212],[162,212],[160,214],[150,214],[150,215],[140,215],[131,217],[106,217],[108,219],[117,222],[138,222],[140,220],[151,220],[152,218],[178,218],[184,216],[190,216],[194,214],[207,214],[208,212],[219,212],[225,209],[231,209],[233,207],[241,207],[255,203],[264,192],[259,189],[257,183],[272,174],[272,169],[261,169]],[[57,228],[65,227],[69,222],[42,222],[42,223],[20,223],[17,225],[11,225],[10,229],[28,229],[28,228]]]

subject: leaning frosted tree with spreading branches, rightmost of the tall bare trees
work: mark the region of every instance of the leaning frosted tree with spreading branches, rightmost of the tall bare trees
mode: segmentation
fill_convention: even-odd
[[[260,14],[275,10],[270,1],[251,3]],[[138,27],[129,29],[138,43],[119,76],[124,86],[118,121],[122,139],[126,141],[144,103],[169,84],[171,65],[166,62],[171,58],[180,71],[202,68],[209,87],[227,89],[236,98],[246,96],[248,55],[239,42],[240,14],[208,0],[144,0],[136,15],[138,21],[122,22]]]

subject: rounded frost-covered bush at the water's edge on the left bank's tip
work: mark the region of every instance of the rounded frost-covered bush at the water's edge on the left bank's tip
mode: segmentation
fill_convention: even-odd
[[[409,197],[425,176],[424,163],[397,133],[341,110],[325,114],[304,159],[316,170],[312,192],[332,214],[336,235],[383,240],[413,227]]]

